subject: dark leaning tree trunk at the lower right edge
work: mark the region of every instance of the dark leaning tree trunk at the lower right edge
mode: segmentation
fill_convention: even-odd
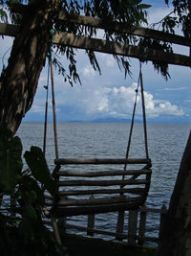
[[[161,226],[158,256],[191,255],[191,133],[166,219]]]

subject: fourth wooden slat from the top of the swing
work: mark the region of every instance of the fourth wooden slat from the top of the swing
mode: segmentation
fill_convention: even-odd
[[[73,190],[73,191],[60,191],[58,192],[59,196],[79,196],[79,195],[96,195],[96,194],[137,194],[137,195],[144,195],[145,189],[144,188],[130,188],[130,189],[88,189],[88,190]]]

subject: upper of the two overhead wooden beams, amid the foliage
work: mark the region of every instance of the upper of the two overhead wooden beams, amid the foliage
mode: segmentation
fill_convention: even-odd
[[[90,26],[97,29],[104,29],[106,31],[138,35],[146,38],[154,38],[161,41],[180,44],[183,46],[191,46],[190,38],[186,38],[181,35],[168,34],[161,31],[156,31],[143,27],[131,27],[128,23],[108,22],[104,19],[66,12],[59,12],[57,15],[57,19],[85,26]]]

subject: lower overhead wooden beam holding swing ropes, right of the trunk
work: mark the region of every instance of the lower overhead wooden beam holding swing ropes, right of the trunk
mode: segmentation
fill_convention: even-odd
[[[72,46],[78,49],[87,49],[106,54],[115,54],[131,58],[141,58],[141,48],[134,45],[125,45],[102,39],[89,38],[66,33],[56,32],[53,42],[63,46]],[[145,59],[150,61],[160,61],[168,64],[191,66],[191,58],[178,54],[165,53],[159,50],[144,48]]]

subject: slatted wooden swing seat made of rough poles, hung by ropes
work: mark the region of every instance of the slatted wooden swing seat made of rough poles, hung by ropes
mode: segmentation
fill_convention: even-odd
[[[46,206],[55,218],[138,209],[147,198],[150,159],[60,158],[54,163],[58,198],[49,197]]]

